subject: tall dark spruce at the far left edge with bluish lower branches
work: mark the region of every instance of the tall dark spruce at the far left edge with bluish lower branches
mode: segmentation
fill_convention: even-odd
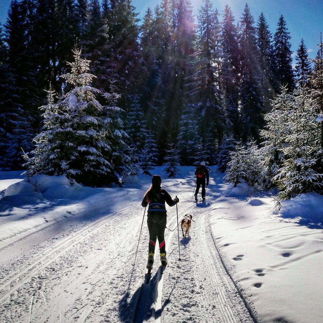
[[[32,125],[35,127],[33,95],[36,82],[28,55],[30,31],[27,30],[26,15],[25,3],[13,0],[5,24],[5,42],[8,47],[4,75],[1,76],[3,101],[0,102],[1,132],[4,134],[0,149],[5,156],[1,166],[8,169],[21,169],[21,148],[25,151],[31,149]]]

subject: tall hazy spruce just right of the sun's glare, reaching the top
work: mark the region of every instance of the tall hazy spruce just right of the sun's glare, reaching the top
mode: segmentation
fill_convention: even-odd
[[[203,0],[203,3],[199,10],[198,35],[191,63],[193,74],[188,78],[187,87],[191,101],[201,110],[200,134],[204,137],[207,132],[212,132],[214,138],[221,141],[225,123],[219,78],[221,29],[218,11],[212,9],[210,0]]]

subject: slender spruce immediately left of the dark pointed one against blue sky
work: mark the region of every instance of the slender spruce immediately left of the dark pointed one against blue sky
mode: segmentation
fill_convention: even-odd
[[[269,30],[266,18],[260,14],[257,22],[257,47],[258,61],[261,70],[261,88],[264,98],[264,110],[268,113],[271,110],[270,100],[274,98],[278,90],[276,80],[276,62],[274,56],[274,46],[272,43],[272,33]]]

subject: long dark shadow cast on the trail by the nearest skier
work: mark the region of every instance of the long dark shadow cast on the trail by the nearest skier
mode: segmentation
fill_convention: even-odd
[[[130,295],[127,292],[119,301],[119,318],[121,322],[138,322],[142,323],[145,320],[150,319],[153,316],[153,304],[155,301],[155,289],[158,281],[162,275],[159,269],[153,277],[151,277],[150,283],[147,285],[143,283],[129,299]],[[163,304],[161,310],[159,310],[158,316],[165,305],[169,301]]]

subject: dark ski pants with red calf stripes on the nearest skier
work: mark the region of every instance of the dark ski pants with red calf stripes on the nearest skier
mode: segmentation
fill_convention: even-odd
[[[166,256],[166,246],[165,246],[165,228],[166,228],[166,212],[152,211],[148,212],[148,230],[149,230],[149,255],[154,255],[156,241],[159,242],[159,250],[161,256]]]

